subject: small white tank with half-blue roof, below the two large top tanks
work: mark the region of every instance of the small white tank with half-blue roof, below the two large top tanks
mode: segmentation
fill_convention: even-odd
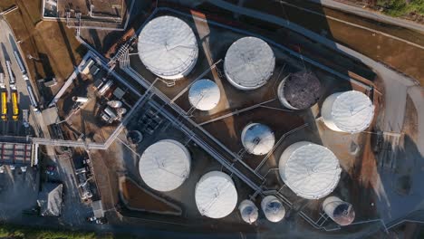
[[[207,79],[194,82],[188,91],[190,104],[198,110],[214,109],[220,98],[221,93],[217,83]]]

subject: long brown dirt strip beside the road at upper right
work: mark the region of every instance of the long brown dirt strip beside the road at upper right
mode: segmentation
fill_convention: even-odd
[[[255,1],[246,1],[245,6],[289,19],[315,33],[323,34],[335,42],[363,53],[375,61],[381,61],[400,72],[404,72],[421,83],[424,81],[424,68],[421,67],[422,62],[424,62],[424,50],[408,43],[393,40],[380,33],[371,33],[368,30],[326,19],[320,15],[310,14],[292,6],[280,5],[277,2],[268,2],[264,5],[257,4]],[[321,12],[323,11],[321,10]],[[390,29],[390,27],[387,28]],[[403,38],[403,36],[410,34],[401,33],[401,36]],[[413,34],[410,37],[417,39],[417,36],[413,36]],[[419,39],[423,39],[420,34]],[[419,43],[422,44],[422,40],[419,40]]]

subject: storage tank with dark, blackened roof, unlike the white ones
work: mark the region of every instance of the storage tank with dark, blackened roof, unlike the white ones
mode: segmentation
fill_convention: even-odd
[[[278,86],[278,99],[291,110],[312,107],[323,94],[321,82],[313,72],[302,71],[289,74]]]

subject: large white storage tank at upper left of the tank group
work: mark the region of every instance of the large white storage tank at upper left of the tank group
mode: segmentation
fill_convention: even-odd
[[[146,24],[139,35],[141,62],[160,78],[176,80],[188,75],[198,61],[198,43],[181,19],[164,15]]]

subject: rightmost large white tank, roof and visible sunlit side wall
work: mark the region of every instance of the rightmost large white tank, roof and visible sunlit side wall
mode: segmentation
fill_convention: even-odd
[[[321,115],[325,125],[334,131],[359,133],[370,126],[374,105],[360,91],[334,93],[324,100]]]

